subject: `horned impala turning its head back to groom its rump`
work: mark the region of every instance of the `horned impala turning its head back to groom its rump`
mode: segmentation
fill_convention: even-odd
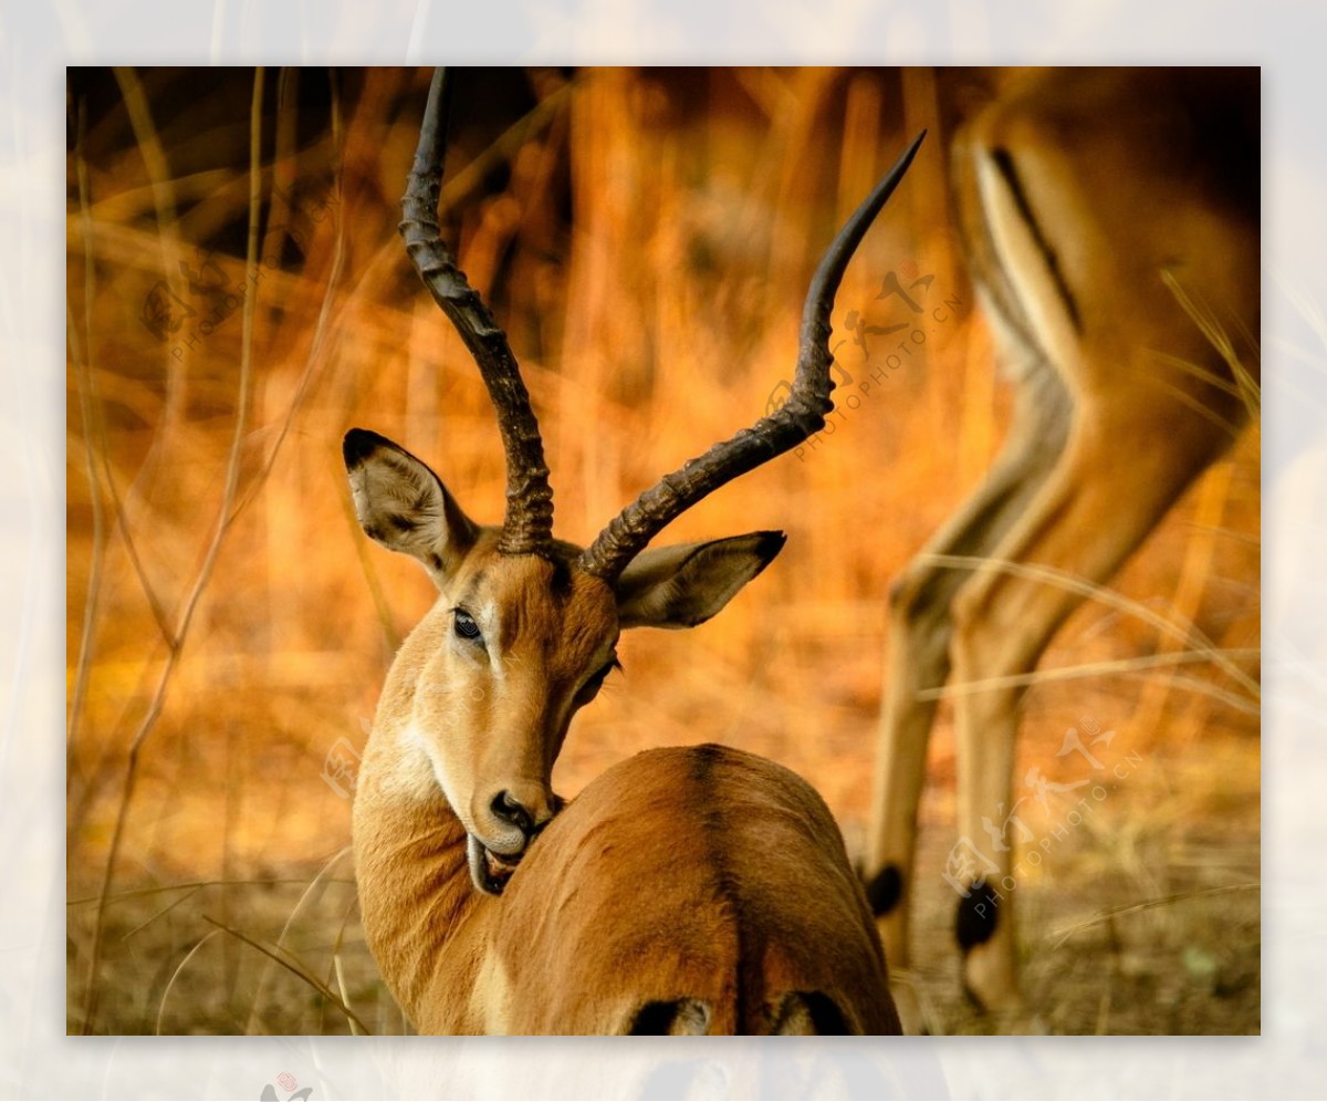
[[[624,628],[717,613],[782,532],[646,548],[685,509],[816,432],[843,271],[917,143],[829,247],[787,404],[666,475],[585,550],[552,490],[515,357],[439,235],[446,82],[403,199],[414,264],[472,353],[507,458],[502,527],[382,437],[344,451],[364,531],[439,596],[387,674],[354,803],[369,947],[421,1032],[897,1033],[865,892],[820,797],[721,746],[638,754],[560,809],[553,762]],[[920,142],[920,138],[918,138]]]

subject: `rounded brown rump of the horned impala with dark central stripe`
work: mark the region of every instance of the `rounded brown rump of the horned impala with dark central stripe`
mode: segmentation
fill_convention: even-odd
[[[673,748],[608,770],[502,905],[515,1033],[898,1032],[833,818],[752,754]]]

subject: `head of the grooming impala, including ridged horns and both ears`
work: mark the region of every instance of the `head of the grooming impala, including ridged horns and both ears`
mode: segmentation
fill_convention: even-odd
[[[557,811],[553,762],[572,717],[617,665],[624,628],[685,628],[714,616],[779,554],[782,532],[660,548],[670,520],[733,478],[817,432],[833,408],[829,311],[849,258],[906,170],[900,158],[839,234],[811,283],[796,376],[775,413],[715,445],[622,510],[588,548],[552,535],[553,495],[539,424],[507,337],[442,243],[447,81],[434,76],[401,232],[434,300],[488,388],[507,461],[500,527],[471,520],[442,479],[391,441],[352,429],[344,443],[365,534],[418,559],[438,600],[393,667],[385,698],[409,714],[395,732],[468,835],[476,888],[500,894],[531,839]],[[382,712],[380,710],[380,716]]]

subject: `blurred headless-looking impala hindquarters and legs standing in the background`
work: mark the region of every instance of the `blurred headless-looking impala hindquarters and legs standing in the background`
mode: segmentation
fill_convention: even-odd
[[[936,689],[963,689],[959,847],[985,843],[1013,806],[1022,674],[1076,583],[1108,579],[1255,409],[1258,109],[1257,69],[1068,69],[1011,82],[958,135],[961,238],[1015,405],[985,483],[890,593],[869,871],[896,968]],[[1011,1006],[1013,846],[981,850],[965,984]]]

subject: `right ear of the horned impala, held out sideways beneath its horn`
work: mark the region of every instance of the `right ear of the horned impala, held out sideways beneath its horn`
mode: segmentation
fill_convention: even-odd
[[[751,532],[709,543],[650,547],[617,580],[624,628],[703,624],[783,550],[783,532]]]

